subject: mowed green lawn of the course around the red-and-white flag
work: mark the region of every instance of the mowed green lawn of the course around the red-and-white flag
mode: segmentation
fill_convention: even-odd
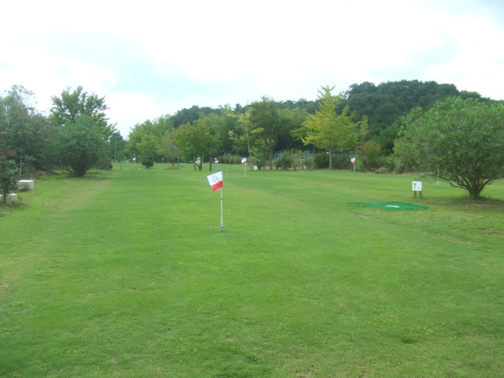
[[[0,376],[504,375],[503,182],[221,164],[220,232],[208,166],[139,168],[0,216]]]

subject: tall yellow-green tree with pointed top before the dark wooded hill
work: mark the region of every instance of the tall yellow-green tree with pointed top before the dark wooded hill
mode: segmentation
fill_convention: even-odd
[[[366,116],[359,122],[353,122],[355,114],[350,113],[348,106],[343,108],[341,114],[337,114],[341,93],[334,96],[331,94],[333,89],[334,86],[322,86],[322,90],[319,90],[320,109],[308,116],[299,131],[299,134],[304,135],[302,142],[305,145],[313,144],[329,151],[329,169],[333,168],[333,151],[353,149],[367,134]]]

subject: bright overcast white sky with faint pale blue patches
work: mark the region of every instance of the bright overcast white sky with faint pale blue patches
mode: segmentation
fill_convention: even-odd
[[[323,85],[435,81],[504,99],[501,0],[28,0],[2,5],[0,35],[2,94],[22,85],[48,114],[82,86],[124,138],[193,105],[316,100]]]

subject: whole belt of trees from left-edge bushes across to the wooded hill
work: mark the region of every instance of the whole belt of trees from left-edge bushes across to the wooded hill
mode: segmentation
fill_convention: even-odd
[[[426,113],[450,98],[502,104],[477,92],[459,91],[453,84],[364,82],[339,93],[321,86],[315,100],[275,101],[263,96],[245,106],[195,105],[137,123],[124,138],[106,118],[104,97],[82,87],[66,88],[51,97],[45,116],[33,106],[33,96],[22,86],[0,96],[0,144],[15,149],[19,160],[24,157],[38,169],[74,176],[92,167],[110,168],[111,161],[133,159],[194,162],[201,170],[204,162],[215,158],[234,162],[247,156],[254,165],[272,169],[275,151],[291,156],[323,153],[317,166],[328,168],[348,167],[348,159],[333,161],[333,152],[351,152],[359,157],[359,169],[402,172],[421,168],[404,148],[406,140],[414,139],[404,134],[408,122],[413,124],[413,111]]]

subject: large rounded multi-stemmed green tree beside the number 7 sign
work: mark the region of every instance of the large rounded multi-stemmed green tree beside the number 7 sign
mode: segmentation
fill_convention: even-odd
[[[504,104],[449,97],[429,110],[413,109],[396,153],[420,171],[478,199],[486,185],[504,176]]]

